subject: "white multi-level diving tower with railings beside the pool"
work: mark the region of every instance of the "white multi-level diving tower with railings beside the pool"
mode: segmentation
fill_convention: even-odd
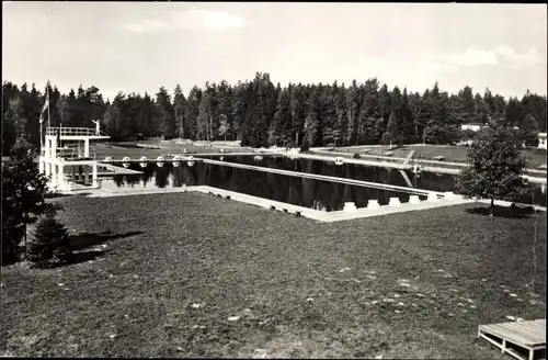
[[[47,127],[41,147],[39,171],[50,176],[52,189],[62,192],[96,189],[98,161],[90,157],[90,143],[109,138],[99,125],[96,128]]]

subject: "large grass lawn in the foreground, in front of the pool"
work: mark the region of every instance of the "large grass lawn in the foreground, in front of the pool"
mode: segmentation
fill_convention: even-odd
[[[546,213],[535,232],[481,205],[323,224],[197,193],[59,201],[72,234],[111,235],[2,268],[0,353],[506,359],[478,325],[545,317]]]

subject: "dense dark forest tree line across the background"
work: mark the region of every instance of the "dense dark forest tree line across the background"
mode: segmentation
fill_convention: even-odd
[[[15,137],[26,133],[39,144],[39,115],[49,93],[52,126],[101,128],[112,140],[147,137],[230,139],[243,146],[350,146],[369,144],[452,144],[459,139],[464,123],[490,119],[526,131],[529,145],[546,132],[547,99],[527,91],[522,99],[505,99],[489,89],[458,93],[442,91],[437,82],[423,93],[406,88],[389,89],[376,78],[351,85],[274,85],[269,74],[237,85],[227,81],[194,86],[185,95],[181,86],[172,93],[118,92],[111,101],[94,86],[68,94],[47,83],[2,85],[2,154]],[[43,126],[47,124],[46,121]]]

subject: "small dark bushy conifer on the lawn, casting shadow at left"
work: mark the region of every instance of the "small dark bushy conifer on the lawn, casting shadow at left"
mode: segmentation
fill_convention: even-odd
[[[65,263],[70,256],[68,230],[54,216],[39,221],[34,238],[26,245],[26,259],[38,267],[50,260]]]

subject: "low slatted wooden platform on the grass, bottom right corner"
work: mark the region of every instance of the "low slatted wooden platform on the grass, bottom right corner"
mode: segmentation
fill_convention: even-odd
[[[480,325],[478,338],[520,360],[546,359],[546,318]]]

